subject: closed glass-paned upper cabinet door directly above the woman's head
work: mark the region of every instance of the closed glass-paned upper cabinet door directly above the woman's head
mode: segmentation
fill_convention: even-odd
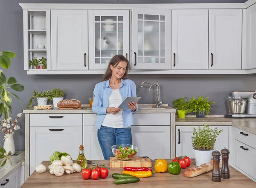
[[[114,55],[130,56],[129,14],[129,10],[89,10],[90,70],[107,69]]]

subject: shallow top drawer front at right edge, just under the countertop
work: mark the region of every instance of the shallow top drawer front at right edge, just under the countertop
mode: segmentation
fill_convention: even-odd
[[[254,149],[256,149],[256,135],[248,133],[247,131],[236,128],[235,130],[235,139],[239,142],[242,142]]]

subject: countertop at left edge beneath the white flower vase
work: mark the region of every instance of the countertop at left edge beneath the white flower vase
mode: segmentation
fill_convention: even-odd
[[[3,167],[0,167],[0,182],[20,168],[21,165],[25,165],[25,151],[16,151],[15,154],[19,155],[10,157],[12,166],[9,159],[7,159],[6,164]],[[2,159],[0,161],[2,161]]]

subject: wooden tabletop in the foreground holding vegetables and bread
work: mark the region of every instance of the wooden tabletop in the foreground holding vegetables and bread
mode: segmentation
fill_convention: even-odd
[[[170,162],[168,159],[167,162]],[[94,160],[98,164],[105,164],[109,167],[109,160]],[[49,161],[43,161],[48,169]],[[192,159],[191,167],[194,167],[195,160]],[[154,170],[154,162],[152,163]],[[256,182],[249,179],[244,174],[241,174],[236,169],[230,166],[230,179],[221,179],[221,182],[212,182],[212,171],[201,174],[196,177],[188,178],[184,176],[184,171],[181,169],[179,175],[172,175],[169,172],[155,173],[148,178],[140,178],[140,182],[129,183],[123,185],[115,185],[112,178],[113,173],[122,174],[122,168],[113,168],[109,170],[106,179],[87,179],[84,180],[80,173],[64,174],[57,177],[49,173],[49,170],[43,174],[33,172],[33,174],[26,180],[21,188],[253,188],[256,187]]]

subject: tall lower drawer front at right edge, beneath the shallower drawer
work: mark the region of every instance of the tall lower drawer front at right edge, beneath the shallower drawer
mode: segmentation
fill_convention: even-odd
[[[256,179],[256,149],[236,140],[236,167]],[[244,150],[241,148],[248,149]]]

